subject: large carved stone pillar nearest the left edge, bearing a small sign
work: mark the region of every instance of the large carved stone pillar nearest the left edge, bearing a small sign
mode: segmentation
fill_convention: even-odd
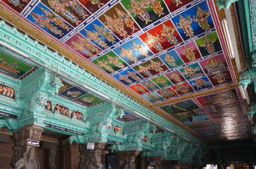
[[[30,125],[13,133],[14,153],[11,158],[13,168],[36,168],[39,166],[36,147],[28,145],[28,139],[39,142],[42,131],[42,127]]]

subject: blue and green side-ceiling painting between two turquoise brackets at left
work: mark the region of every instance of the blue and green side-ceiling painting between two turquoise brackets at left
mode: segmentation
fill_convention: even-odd
[[[79,103],[80,105],[84,105],[87,107],[103,101],[102,99],[92,95],[91,93],[88,93],[88,91],[84,91],[79,87],[72,86],[68,82],[65,82],[65,80],[62,80],[62,83],[64,86],[59,89],[58,95],[69,99],[70,101]]]

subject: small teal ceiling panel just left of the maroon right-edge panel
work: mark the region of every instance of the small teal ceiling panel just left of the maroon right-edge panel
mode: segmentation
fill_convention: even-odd
[[[201,67],[198,63],[185,66],[184,68],[181,68],[179,70],[187,80],[190,80],[192,78],[198,78],[199,76],[204,75],[203,70],[201,70]]]

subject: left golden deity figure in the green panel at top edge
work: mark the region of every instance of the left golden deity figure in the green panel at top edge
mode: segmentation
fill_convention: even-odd
[[[141,19],[141,21],[145,21],[146,25],[148,24],[149,21],[152,21],[150,20],[150,15],[148,15],[148,12],[146,11],[146,8],[148,7],[146,1],[130,1],[131,7],[129,7],[128,11],[129,13],[134,13],[133,17],[138,15],[139,19]]]

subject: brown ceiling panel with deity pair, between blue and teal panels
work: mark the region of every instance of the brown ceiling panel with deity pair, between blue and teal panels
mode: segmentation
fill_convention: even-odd
[[[148,78],[168,70],[168,67],[162,62],[162,60],[160,60],[160,58],[156,57],[152,58],[152,60],[148,60],[137,66],[134,66],[133,69],[141,74],[143,78]]]

